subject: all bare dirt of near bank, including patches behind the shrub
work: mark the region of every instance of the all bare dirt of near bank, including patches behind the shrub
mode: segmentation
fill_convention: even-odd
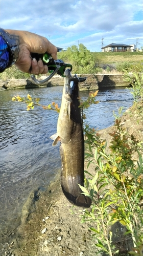
[[[143,145],[142,113],[142,105],[137,108],[131,107],[122,116],[122,124]],[[112,130],[113,126],[100,131],[108,143],[111,139],[108,133]],[[60,174],[44,193],[34,195],[36,196],[34,196],[33,210],[22,215],[23,220],[21,220],[21,226],[16,232],[16,237],[2,255],[98,255],[96,247],[93,246],[89,223],[81,223],[80,215],[84,209],[75,207],[67,201],[60,186]],[[116,227],[112,227],[113,232],[115,229]],[[123,227],[121,230],[117,243],[122,241],[119,243],[122,251],[123,248],[128,249],[132,244],[131,241],[125,241],[124,236],[122,236]]]

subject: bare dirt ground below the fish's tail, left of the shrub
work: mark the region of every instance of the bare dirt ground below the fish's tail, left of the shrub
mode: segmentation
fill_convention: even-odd
[[[7,254],[3,255],[94,255],[91,232],[79,217],[84,209],[67,201],[59,175],[35,203],[36,208],[24,218]]]

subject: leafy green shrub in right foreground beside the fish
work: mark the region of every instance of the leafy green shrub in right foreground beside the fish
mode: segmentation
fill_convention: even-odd
[[[133,83],[134,108],[139,110],[138,113],[143,118],[140,111],[143,103],[142,75],[133,74],[131,78],[127,72],[125,74]],[[88,125],[85,125],[84,132],[87,161],[85,175],[88,178],[85,177],[85,186],[80,187],[83,194],[91,198],[92,206],[83,213],[82,223],[90,223],[94,245],[99,248],[99,255],[129,253],[143,256],[142,141],[138,142],[133,135],[128,134],[121,124],[120,117],[115,120],[114,131],[109,133],[112,138],[109,146],[107,141]],[[115,223],[118,226],[113,231]],[[124,232],[121,231],[123,229]],[[115,237],[124,243],[117,243]],[[129,241],[127,246],[126,241]],[[129,244],[132,248],[130,251]]]

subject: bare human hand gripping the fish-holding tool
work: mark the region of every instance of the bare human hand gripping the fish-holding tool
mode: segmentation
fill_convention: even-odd
[[[43,65],[42,60],[36,60],[31,58],[31,53],[50,53],[53,59],[57,59],[57,48],[51,44],[49,40],[45,37],[19,30],[9,30],[6,31],[11,34],[19,37],[19,56],[18,60],[15,63],[15,66],[26,73],[31,73],[34,75],[46,74],[48,68],[46,65]]]

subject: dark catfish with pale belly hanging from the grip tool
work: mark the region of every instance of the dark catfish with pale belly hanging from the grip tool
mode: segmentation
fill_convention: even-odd
[[[91,199],[81,195],[82,190],[78,185],[84,185],[84,136],[78,99],[80,78],[72,77],[68,69],[64,75],[57,134],[51,138],[54,139],[53,145],[58,140],[61,142],[61,186],[65,197],[74,205],[88,208]]]

